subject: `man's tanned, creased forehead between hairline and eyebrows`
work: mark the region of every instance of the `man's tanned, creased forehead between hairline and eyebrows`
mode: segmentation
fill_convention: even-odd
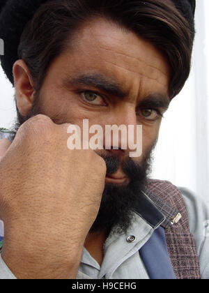
[[[154,45],[117,24],[97,19],[84,24],[51,70],[61,75],[100,74],[125,91],[168,92],[169,64]],[[58,72],[57,72],[58,73]]]

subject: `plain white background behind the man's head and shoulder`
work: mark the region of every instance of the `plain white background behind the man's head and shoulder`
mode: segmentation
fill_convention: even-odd
[[[196,0],[192,73],[165,115],[152,177],[184,186],[208,199],[209,190],[209,1]],[[0,69],[0,127],[15,121],[14,90]]]

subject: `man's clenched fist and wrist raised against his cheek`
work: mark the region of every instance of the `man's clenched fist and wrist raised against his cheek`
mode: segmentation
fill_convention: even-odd
[[[17,278],[76,278],[98,214],[106,165],[67,148],[68,126],[29,119],[0,162],[2,257]]]

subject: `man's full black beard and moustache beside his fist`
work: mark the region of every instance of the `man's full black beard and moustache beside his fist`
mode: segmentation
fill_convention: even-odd
[[[153,147],[152,147],[153,149]],[[102,156],[102,155],[100,155]],[[107,174],[114,174],[121,161],[116,156],[102,156],[107,165]],[[140,191],[146,184],[150,172],[151,151],[139,165],[127,158],[122,169],[130,179],[127,185],[106,183],[98,216],[93,223],[90,233],[110,230],[117,234],[126,234],[134,217],[134,208],[139,200]]]

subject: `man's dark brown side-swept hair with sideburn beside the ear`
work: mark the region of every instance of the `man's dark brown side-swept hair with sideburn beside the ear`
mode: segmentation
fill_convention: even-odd
[[[43,3],[26,24],[18,57],[26,62],[39,91],[52,61],[70,36],[92,17],[106,17],[150,41],[167,57],[169,96],[183,88],[190,72],[194,32],[171,0],[52,0]],[[20,123],[23,117],[20,113]]]

